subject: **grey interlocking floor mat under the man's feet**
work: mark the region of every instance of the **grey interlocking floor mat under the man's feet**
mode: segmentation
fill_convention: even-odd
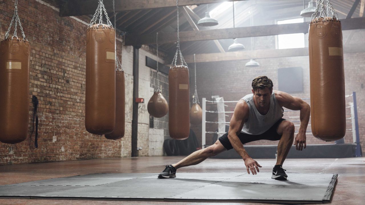
[[[67,198],[155,201],[239,201],[277,203],[330,202],[337,174],[288,173],[287,181],[271,173],[88,174],[0,186],[1,198]]]

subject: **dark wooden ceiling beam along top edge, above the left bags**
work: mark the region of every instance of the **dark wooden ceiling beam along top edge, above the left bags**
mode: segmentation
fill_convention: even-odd
[[[233,0],[179,0],[179,6],[212,4]],[[235,0],[244,1],[244,0]],[[59,16],[92,15],[97,8],[98,0],[68,0],[61,5]],[[104,0],[107,12],[113,11],[113,0]],[[176,7],[176,0],[115,0],[115,11],[154,9]]]

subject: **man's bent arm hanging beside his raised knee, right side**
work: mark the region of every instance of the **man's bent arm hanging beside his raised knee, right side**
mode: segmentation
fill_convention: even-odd
[[[307,102],[304,102],[299,97],[293,97],[288,93],[276,91],[275,97],[279,102],[280,106],[291,109],[291,110],[300,110],[300,127],[299,132],[295,138],[295,148],[296,150],[303,150],[303,147],[306,148],[306,132],[307,126],[309,122],[309,117],[311,115],[311,107]]]

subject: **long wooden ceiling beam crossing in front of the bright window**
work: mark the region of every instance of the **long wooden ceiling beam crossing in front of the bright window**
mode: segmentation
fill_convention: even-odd
[[[342,30],[353,30],[365,28],[365,18],[342,19]],[[254,36],[271,36],[280,34],[307,33],[308,23],[292,23],[292,24],[274,24],[265,26],[225,28],[215,30],[200,31],[183,31],[180,32],[180,42],[198,41],[198,40],[215,40],[228,38],[247,38]],[[174,43],[176,42],[177,33],[161,33],[158,35],[158,42]],[[154,44],[155,34],[145,35],[127,35],[125,45],[149,45]]]

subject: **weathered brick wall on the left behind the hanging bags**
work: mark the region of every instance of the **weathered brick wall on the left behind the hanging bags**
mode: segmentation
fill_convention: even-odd
[[[0,143],[0,165],[130,156],[133,52],[130,47],[123,48],[121,57],[122,43],[116,41],[126,71],[124,138],[107,140],[104,136],[89,134],[84,125],[85,24],[88,23],[82,23],[88,19],[61,18],[55,7],[53,1],[47,0],[19,1],[19,17],[32,49],[29,125],[33,108],[31,96],[35,95],[39,99],[39,147],[34,148],[30,138],[15,145]],[[1,1],[0,11],[0,38],[3,39],[14,13],[14,1]]]

